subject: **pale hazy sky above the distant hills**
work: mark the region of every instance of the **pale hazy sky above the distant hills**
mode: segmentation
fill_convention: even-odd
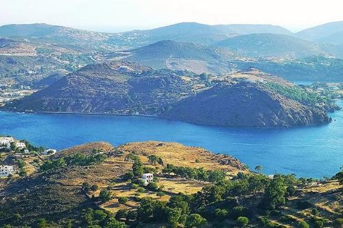
[[[0,24],[49,23],[97,31],[182,21],[263,23],[299,30],[343,21],[342,0],[1,0]]]

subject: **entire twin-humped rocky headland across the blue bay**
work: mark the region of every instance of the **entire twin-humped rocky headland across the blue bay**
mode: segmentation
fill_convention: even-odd
[[[325,102],[255,69],[217,77],[110,62],[88,65],[3,108],[153,115],[204,125],[288,127],[329,123],[326,112],[314,107]]]

